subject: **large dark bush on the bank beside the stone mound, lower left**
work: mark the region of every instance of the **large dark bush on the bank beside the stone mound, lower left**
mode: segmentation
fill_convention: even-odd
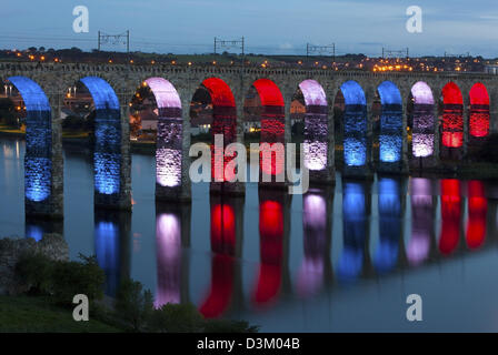
[[[53,268],[53,294],[58,303],[72,305],[77,294],[87,295],[88,300],[103,296],[106,274],[94,256],[79,255],[82,262],[57,262]]]

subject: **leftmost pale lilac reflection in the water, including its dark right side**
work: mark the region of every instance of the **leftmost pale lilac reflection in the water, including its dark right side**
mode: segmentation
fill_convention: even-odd
[[[157,308],[189,300],[188,258],[182,247],[190,244],[190,204],[156,204]]]

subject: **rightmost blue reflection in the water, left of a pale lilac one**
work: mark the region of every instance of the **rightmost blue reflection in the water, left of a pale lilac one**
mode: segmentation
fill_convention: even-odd
[[[374,264],[379,273],[390,271],[398,260],[401,235],[400,182],[395,179],[379,180],[379,244]]]

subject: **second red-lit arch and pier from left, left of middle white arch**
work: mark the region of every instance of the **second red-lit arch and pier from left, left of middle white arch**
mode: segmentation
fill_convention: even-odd
[[[261,143],[269,143],[275,149],[275,143],[285,142],[285,110],[283,97],[275,82],[268,79],[255,81],[253,87],[262,105],[261,113]],[[265,149],[271,154],[271,163],[263,161],[263,152],[260,154],[260,168],[269,175],[278,175],[283,171],[283,154]]]

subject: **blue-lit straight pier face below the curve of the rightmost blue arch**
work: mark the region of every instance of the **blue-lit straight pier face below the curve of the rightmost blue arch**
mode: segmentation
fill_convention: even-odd
[[[384,163],[401,160],[402,112],[401,105],[382,105],[380,116],[379,154]]]

